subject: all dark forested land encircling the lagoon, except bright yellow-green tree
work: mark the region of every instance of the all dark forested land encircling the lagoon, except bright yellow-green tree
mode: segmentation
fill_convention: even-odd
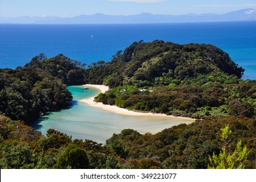
[[[241,79],[243,73],[214,45],[161,40],[134,42],[110,62],[40,54],[15,70],[0,69],[0,167],[207,168],[209,156],[223,148],[221,128],[229,125],[227,153],[241,141],[248,155],[238,162],[256,168],[256,81]],[[26,125],[68,108],[67,85],[85,83],[110,86],[95,98],[104,104],[199,120],[155,135],[124,129],[104,146],[54,129],[42,136]]]

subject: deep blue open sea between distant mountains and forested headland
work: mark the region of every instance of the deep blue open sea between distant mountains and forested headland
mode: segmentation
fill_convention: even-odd
[[[109,61],[133,42],[165,40],[214,44],[256,79],[256,21],[133,25],[0,24],[0,68],[24,66],[32,57],[60,53],[86,64]]]

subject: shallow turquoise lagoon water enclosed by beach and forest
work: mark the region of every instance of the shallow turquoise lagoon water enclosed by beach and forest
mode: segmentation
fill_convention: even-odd
[[[71,135],[72,138],[104,143],[113,133],[120,133],[122,129],[131,128],[140,133],[156,133],[173,125],[186,123],[180,118],[127,116],[90,107],[79,100],[95,96],[100,92],[99,90],[95,88],[82,90],[82,86],[69,86],[69,90],[74,98],[69,109],[46,113],[35,125],[32,125],[38,131],[42,131],[43,135],[48,129],[54,128]]]

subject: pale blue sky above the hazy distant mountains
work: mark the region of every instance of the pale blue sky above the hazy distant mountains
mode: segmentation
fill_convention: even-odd
[[[59,16],[103,13],[152,14],[223,14],[255,8],[256,0],[0,0],[0,17]]]

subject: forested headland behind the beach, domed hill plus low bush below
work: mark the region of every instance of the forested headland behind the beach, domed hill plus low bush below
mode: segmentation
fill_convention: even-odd
[[[112,90],[96,101],[175,116],[255,116],[255,81],[214,45],[135,42],[111,62],[89,66],[87,83]]]

